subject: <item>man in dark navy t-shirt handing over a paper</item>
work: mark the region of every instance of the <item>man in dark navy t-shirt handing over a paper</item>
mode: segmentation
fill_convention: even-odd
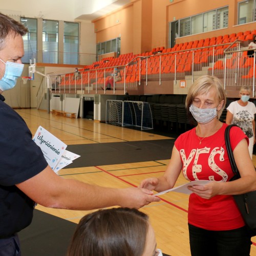
[[[88,210],[109,206],[139,208],[160,201],[138,187],[107,188],[63,179],[32,140],[26,122],[2,95],[22,75],[27,28],[0,13],[0,255],[20,255],[17,232],[33,218],[35,202],[52,208]]]

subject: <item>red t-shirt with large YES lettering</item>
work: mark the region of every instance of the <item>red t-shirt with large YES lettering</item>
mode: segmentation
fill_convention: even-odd
[[[229,163],[224,133],[227,124],[214,135],[200,140],[196,129],[181,134],[175,141],[183,163],[182,173],[188,181],[229,181],[233,172]],[[232,150],[246,135],[239,127],[230,130]],[[248,138],[247,138],[248,143]],[[232,196],[203,199],[192,193],[188,203],[188,223],[207,230],[230,230],[243,227],[244,221]]]

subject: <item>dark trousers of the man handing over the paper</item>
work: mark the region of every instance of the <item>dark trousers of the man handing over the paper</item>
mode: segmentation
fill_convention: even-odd
[[[18,235],[0,239],[0,256],[20,256],[20,245]]]

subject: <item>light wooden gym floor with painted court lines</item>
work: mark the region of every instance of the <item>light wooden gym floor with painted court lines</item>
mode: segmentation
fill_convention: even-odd
[[[55,116],[35,109],[22,109],[16,112],[24,118],[33,135],[41,125],[67,145],[170,139],[98,121]],[[256,166],[256,156],[253,156],[253,162]],[[159,161],[66,168],[60,170],[58,174],[63,178],[77,179],[90,184],[124,188],[138,186],[140,181],[147,177],[162,175],[167,163],[168,159],[159,159]],[[176,186],[186,182],[180,176]],[[172,256],[190,255],[187,227],[188,196],[171,192],[160,198],[162,199],[160,202],[141,208],[141,211],[150,216],[156,233],[157,248]],[[78,223],[84,215],[91,212],[51,209],[40,205],[36,208],[74,223]],[[256,256],[256,237],[252,238],[252,242],[251,256]]]

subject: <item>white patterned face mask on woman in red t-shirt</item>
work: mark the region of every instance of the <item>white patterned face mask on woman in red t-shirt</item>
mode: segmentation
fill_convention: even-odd
[[[198,123],[208,123],[215,117],[217,117],[217,108],[213,109],[199,109],[193,104],[189,107],[189,111],[197,120]]]

